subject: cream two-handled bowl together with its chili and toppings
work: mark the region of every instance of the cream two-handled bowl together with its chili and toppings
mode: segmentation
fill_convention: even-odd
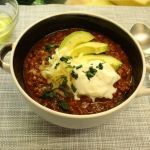
[[[70,53],[67,51],[67,56],[61,55],[57,60],[56,54],[63,46],[63,40],[76,33],[90,34],[92,40],[83,43],[84,46],[75,47],[76,53],[73,50],[69,55]],[[90,66],[88,70],[84,70],[84,63],[82,64],[80,61],[93,60],[93,58],[97,58],[97,54],[89,57],[89,51],[91,51],[89,50],[86,51],[88,55],[83,57],[80,55],[80,51],[85,48],[85,45],[87,47],[93,43],[97,45],[104,43],[100,44],[100,47],[101,45],[106,47],[107,44],[109,50],[101,48],[100,60],[102,63],[99,61],[96,64],[97,62],[94,61],[89,66],[96,64],[95,66]],[[70,43],[68,45],[68,50],[70,50],[72,45],[70,46]],[[92,46],[92,51],[95,50],[93,47],[95,48],[95,45]],[[3,58],[10,50],[11,61],[10,64],[7,64]],[[74,55],[73,58],[72,55]],[[77,55],[82,59],[79,59],[76,65],[72,65],[71,60],[74,60]],[[106,55],[109,55],[109,61],[115,59],[115,61],[121,62],[119,69],[113,66],[114,60],[111,64],[113,72],[115,70],[115,73],[119,75],[119,78],[112,83],[111,89],[116,89],[112,93],[112,97],[110,98],[108,95],[110,93],[106,94],[109,91],[108,86],[102,86],[96,93],[99,95],[102,92],[108,96],[102,94],[101,97],[95,96],[93,98],[93,95],[90,97],[82,94],[89,90],[84,90],[87,86],[95,89],[96,82],[93,82],[92,85],[87,85],[87,82],[92,82],[98,73],[101,75],[105,68],[109,68],[106,63],[107,60],[104,58]],[[104,63],[103,60],[106,62]],[[54,63],[55,65],[53,65]],[[11,73],[16,86],[34,112],[45,120],[66,128],[79,129],[97,126],[117,114],[136,96],[150,93],[150,89],[143,87],[146,64],[139,44],[124,27],[95,14],[62,13],[34,23],[20,35],[15,43],[2,48],[0,66]],[[61,68],[62,66],[64,68]],[[64,72],[66,68],[71,77],[67,76],[66,71]],[[58,73],[60,74],[59,78],[56,78]],[[80,74],[84,74],[84,77],[80,78]],[[74,84],[72,84],[72,80]],[[56,84],[53,84],[54,82]],[[98,84],[97,87],[99,86],[101,85]],[[76,93],[80,95],[78,98]]]

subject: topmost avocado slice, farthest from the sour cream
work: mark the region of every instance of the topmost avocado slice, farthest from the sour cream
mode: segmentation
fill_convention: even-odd
[[[94,39],[94,36],[89,32],[75,31],[64,38],[64,40],[60,44],[59,50],[61,49],[71,50],[75,46],[84,42],[89,42],[92,39]]]

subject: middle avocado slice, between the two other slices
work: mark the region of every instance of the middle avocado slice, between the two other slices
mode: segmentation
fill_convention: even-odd
[[[80,54],[100,54],[108,50],[108,44],[100,42],[87,42],[76,46],[71,50],[70,55],[73,57],[79,56]]]

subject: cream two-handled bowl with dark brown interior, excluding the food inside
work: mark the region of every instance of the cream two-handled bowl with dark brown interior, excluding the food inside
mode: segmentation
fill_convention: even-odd
[[[72,115],[48,109],[34,101],[25,92],[22,70],[25,56],[30,48],[46,34],[69,27],[81,27],[88,30],[102,31],[124,47],[125,53],[133,68],[133,79],[135,84],[128,98],[120,105],[97,114]],[[3,58],[9,50],[12,50],[11,61],[10,64],[6,64]],[[13,45],[6,45],[2,49],[0,53],[0,66],[10,71],[16,86],[34,112],[45,120],[66,128],[89,128],[97,126],[104,121],[111,121],[110,118],[127,106],[135,96],[147,95],[150,93],[150,89],[143,87],[146,64],[143,52],[138,43],[134,40],[132,35],[118,25],[118,23],[94,14],[70,12],[56,14],[36,22],[26,29]]]

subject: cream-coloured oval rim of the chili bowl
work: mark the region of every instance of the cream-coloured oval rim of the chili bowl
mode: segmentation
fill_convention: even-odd
[[[13,56],[14,56],[14,52],[16,49],[17,44],[19,43],[19,40],[24,36],[24,34],[33,26],[35,26],[36,24],[47,20],[51,17],[55,17],[55,16],[59,16],[59,15],[86,15],[86,16],[90,16],[90,17],[94,17],[94,18],[98,18],[98,19],[103,19],[111,24],[114,24],[116,27],[120,28],[121,30],[123,30],[124,32],[126,32],[128,34],[128,36],[132,39],[132,41],[137,45],[138,50],[141,54],[141,58],[142,58],[142,62],[143,62],[143,72],[142,72],[142,77],[141,80],[136,88],[136,90],[131,94],[131,96],[129,98],[127,98],[124,102],[122,102],[121,104],[103,111],[103,112],[99,112],[99,113],[95,113],[95,114],[86,114],[86,115],[76,115],[76,114],[67,114],[67,113],[63,113],[63,112],[58,112],[55,110],[52,110],[50,108],[47,108],[41,104],[39,104],[38,102],[36,102],[34,99],[32,99],[20,86],[18,80],[16,79],[15,73],[14,73],[14,69],[13,69]],[[11,70],[11,74],[13,77],[13,80],[16,84],[16,86],[18,87],[19,91],[24,95],[25,99],[27,101],[30,101],[30,103],[32,103],[34,106],[36,106],[39,109],[42,109],[43,111],[55,115],[55,116],[59,116],[59,117],[63,117],[63,118],[72,118],[72,119],[90,119],[90,118],[97,118],[97,117],[103,117],[109,114],[112,114],[118,110],[120,110],[121,108],[123,108],[124,106],[126,106],[129,102],[131,102],[131,100],[136,96],[136,94],[138,93],[139,89],[142,87],[143,82],[144,82],[144,78],[145,78],[145,74],[146,74],[146,64],[145,64],[145,57],[144,54],[142,52],[142,49],[140,47],[140,45],[137,43],[137,41],[134,39],[134,37],[131,35],[131,33],[129,31],[127,31],[124,27],[122,27],[120,24],[118,24],[116,21],[111,20],[110,18],[104,17],[102,15],[99,14],[94,14],[94,13],[87,13],[84,11],[68,11],[65,13],[55,13],[53,15],[49,15],[47,17],[44,17],[36,22],[34,22],[33,24],[31,24],[29,27],[27,27],[22,34],[17,38],[17,40],[15,41],[15,43],[13,44],[13,48],[12,48],[12,52],[11,52],[11,58],[10,58],[10,70]]]

